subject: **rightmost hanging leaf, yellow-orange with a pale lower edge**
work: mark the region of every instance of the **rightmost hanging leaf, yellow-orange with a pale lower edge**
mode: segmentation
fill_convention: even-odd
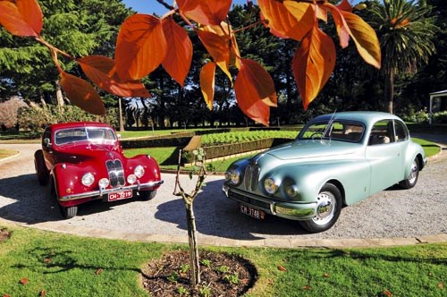
[[[375,30],[363,21],[357,14],[341,11],[344,20],[350,28],[350,37],[354,40],[358,54],[361,55],[367,64],[380,69],[382,55],[380,43]]]

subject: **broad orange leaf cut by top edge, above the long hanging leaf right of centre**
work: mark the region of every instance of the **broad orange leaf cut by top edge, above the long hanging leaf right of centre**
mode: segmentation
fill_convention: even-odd
[[[276,0],[258,0],[257,4],[276,37],[300,41],[313,26],[315,12],[311,4],[291,1],[283,4]]]

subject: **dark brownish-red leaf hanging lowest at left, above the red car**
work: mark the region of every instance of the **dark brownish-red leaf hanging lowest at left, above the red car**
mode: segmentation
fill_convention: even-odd
[[[89,82],[72,74],[61,73],[61,85],[72,104],[93,115],[105,115],[104,103]]]

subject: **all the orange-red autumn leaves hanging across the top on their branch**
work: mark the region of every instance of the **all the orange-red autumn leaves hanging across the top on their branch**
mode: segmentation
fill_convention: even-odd
[[[380,68],[381,52],[375,31],[352,13],[348,0],[338,5],[327,0],[258,0],[257,3],[262,23],[274,36],[300,42],[293,56],[292,72],[304,109],[323,89],[335,65],[333,40],[319,28],[319,21],[327,21],[328,13],[332,14],[340,46],[348,47],[352,39],[367,64]],[[37,0],[0,0],[0,24],[13,35],[35,38],[48,47],[67,97],[96,115],[105,114],[96,90],[88,81],[64,72],[58,55],[80,64],[89,80],[100,89],[118,96],[148,98],[150,94],[140,80],[160,65],[183,86],[193,51],[187,30],[194,30],[212,57],[200,73],[207,106],[213,106],[218,67],[234,83],[242,112],[268,125],[270,106],[277,105],[274,82],[260,64],[240,56],[238,31],[232,29],[227,19],[232,0],[177,0],[175,5],[165,4],[170,11],[161,18],[137,13],[126,19],[118,35],[114,59],[100,55],[75,58],[46,42],[40,36],[43,16]],[[185,27],[174,21],[174,13],[186,23]],[[234,81],[231,68],[237,71]]]

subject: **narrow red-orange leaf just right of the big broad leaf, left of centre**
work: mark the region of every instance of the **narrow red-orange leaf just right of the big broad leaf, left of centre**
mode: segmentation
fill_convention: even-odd
[[[163,67],[181,87],[192,61],[192,43],[186,31],[181,28],[173,18],[163,20],[163,31],[166,42],[169,45],[164,57]]]

